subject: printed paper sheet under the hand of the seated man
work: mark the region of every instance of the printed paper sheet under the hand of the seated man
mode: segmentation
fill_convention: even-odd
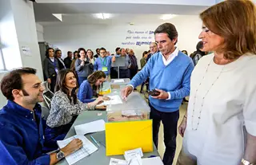
[[[78,151],[75,151],[73,154],[66,156],[66,161],[69,164],[74,164],[78,162],[80,159],[85,158],[87,155],[94,153],[98,148],[94,146],[93,143],[90,142],[86,136],[72,136],[68,139],[58,140],[58,147],[66,147],[68,143],[70,143],[73,139],[81,139],[82,140],[82,148]]]

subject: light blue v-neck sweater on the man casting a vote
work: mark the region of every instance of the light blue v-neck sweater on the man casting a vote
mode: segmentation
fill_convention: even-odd
[[[158,100],[150,96],[150,104],[161,112],[175,112],[182,104],[182,99],[190,94],[190,76],[193,69],[193,61],[181,51],[169,65],[164,65],[162,53],[158,52],[150,57],[130,84],[135,88],[150,77],[150,90],[158,88],[170,92],[170,100]]]

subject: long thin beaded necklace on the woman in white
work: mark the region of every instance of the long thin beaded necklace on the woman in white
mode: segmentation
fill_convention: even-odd
[[[214,61],[214,60],[213,60],[213,61]],[[209,69],[209,66],[210,66],[211,63],[212,63],[212,61],[210,61],[210,63],[207,65],[206,73],[208,72],[208,69]],[[203,105],[204,105],[205,98],[206,98],[207,94],[209,93],[210,89],[214,86],[215,82],[218,81],[218,78],[221,76],[222,71],[223,71],[224,68],[225,68],[225,65],[222,67],[221,72],[218,73],[218,77],[216,78],[216,80],[214,80],[214,82],[210,85],[210,88],[207,90],[205,96],[202,97],[202,106],[200,107],[199,116],[198,116],[198,124],[196,125],[196,128],[194,128],[194,117],[195,117],[195,116],[194,116],[194,105],[195,105],[195,103],[196,103],[196,98],[197,98],[197,94],[198,94],[198,88],[200,88],[200,86],[202,85],[202,81],[205,79],[206,73],[205,73],[204,76],[202,77],[202,81],[199,83],[198,88],[197,88],[196,91],[195,91],[195,94],[194,94],[194,103],[193,103],[193,113],[192,113],[192,130],[193,130],[193,131],[197,131],[197,130],[198,130],[198,125],[199,125],[200,120],[201,120],[201,113],[202,113],[202,108],[203,108]]]

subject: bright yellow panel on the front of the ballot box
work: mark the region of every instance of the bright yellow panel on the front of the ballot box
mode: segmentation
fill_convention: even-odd
[[[152,120],[106,123],[105,128],[106,155],[123,155],[138,147],[153,151]]]

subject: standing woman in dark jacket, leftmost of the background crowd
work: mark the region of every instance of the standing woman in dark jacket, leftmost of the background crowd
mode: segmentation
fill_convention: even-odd
[[[48,48],[46,50],[46,58],[43,61],[43,73],[44,77],[50,84],[50,91],[52,92],[54,92],[58,70],[59,66],[57,59],[54,58],[54,49]]]

